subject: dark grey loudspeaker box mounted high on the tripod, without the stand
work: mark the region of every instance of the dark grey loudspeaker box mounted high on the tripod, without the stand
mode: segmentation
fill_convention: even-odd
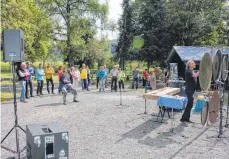
[[[3,31],[3,61],[24,61],[24,34],[19,29]]]

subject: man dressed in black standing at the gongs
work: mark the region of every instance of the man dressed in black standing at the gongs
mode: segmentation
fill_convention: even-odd
[[[186,71],[185,71],[185,94],[188,98],[187,106],[184,110],[184,113],[180,119],[182,123],[191,122],[190,121],[190,113],[193,107],[193,95],[196,91],[196,78],[199,76],[199,72],[194,73],[193,69],[195,68],[194,61],[188,61],[186,64]]]

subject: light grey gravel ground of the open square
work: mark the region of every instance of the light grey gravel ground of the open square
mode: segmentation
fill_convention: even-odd
[[[63,105],[62,96],[44,95],[18,102],[19,125],[59,122],[69,132],[70,159],[229,159],[228,138],[217,136],[218,123],[203,127],[200,114],[192,114],[194,124],[184,127],[179,122],[181,113],[175,113],[174,131],[171,120],[156,121],[156,101],[147,101],[144,114],[143,90],[127,90],[120,106],[118,92],[79,91],[79,103]],[[2,138],[14,124],[13,102],[1,105]],[[224,120],[225,123],[225,120]],[[4,141],[4,146],[15,148],[15,133]],[[25,134],[20,131],[20,145],[25,146]],[[12,157],[2,149],[1,158]]]

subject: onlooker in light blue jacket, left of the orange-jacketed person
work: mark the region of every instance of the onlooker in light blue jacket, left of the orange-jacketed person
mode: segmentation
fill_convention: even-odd
[[[37,95],[43,95],[43,84],[44,84],[44,76],[45,71],[43,69],[43,65],[40,63],[39,67],[36,69],[36,76],[37,76]]]

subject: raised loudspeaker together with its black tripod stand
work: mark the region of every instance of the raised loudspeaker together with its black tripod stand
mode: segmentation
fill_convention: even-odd
[[[24,61],[24,35],[22,30],[18,29],[7,29],[3,31],[3,61],[11,62],[12,70],[13,70],[13,95],[14,95],[14,117],[15,123],[11,130],[7,133],[7,135],[1,141],[1,147],[7,151],[17,154],[17,157],[20,158],[20,153],[23,152],[26,147],[22,150],[19,148],[19,138],[18,138],[18,130],[25,130],[18,124],[17,117],[17,100],[16,100],[16,81],[15,81],[15,65],[18,62]],[[16,135],[16,151],[11,150],[2,145],[5,139],[10,135],[10,133],[15,129]]]

